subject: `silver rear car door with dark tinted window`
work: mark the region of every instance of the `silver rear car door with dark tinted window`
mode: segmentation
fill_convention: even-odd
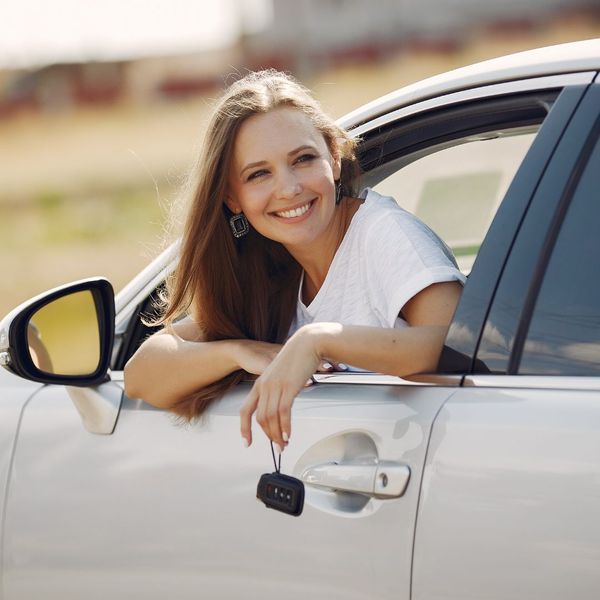
[[[415,599],[598,597],[599,132],[596,83],[519,227],[479,360],[436,420]]]

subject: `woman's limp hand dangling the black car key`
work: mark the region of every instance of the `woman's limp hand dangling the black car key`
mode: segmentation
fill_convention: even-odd
[[[292,403],[321,363],[319,328],[313,325],[299,329],[254,382],[240,410],[241,434],[248,445],[252,443],[254,412],[270,440],[282,449],[289,441]]]

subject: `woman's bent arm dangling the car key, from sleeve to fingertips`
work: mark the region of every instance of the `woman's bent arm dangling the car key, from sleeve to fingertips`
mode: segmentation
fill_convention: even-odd
[[[299,329],[267,367],[241,410],[241,433],[252,441],[251,420],[281,448],[291,435],[291,406],[306,379],[325,357],[388,375],[406,376],[434,369],[462,287],[436,283],[409,300],[402,315],[406,329],[339,323],[312,323]]]

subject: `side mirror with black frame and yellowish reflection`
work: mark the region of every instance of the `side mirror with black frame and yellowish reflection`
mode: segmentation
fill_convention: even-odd
[[[108,379],[115,301],[104,278],[45,292],[0,322],[0,365],[42,383],[93,386]]]

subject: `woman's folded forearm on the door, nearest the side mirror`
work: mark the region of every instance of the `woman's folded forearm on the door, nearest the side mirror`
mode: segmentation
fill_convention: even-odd
[[[125,393],[171,408],[192,392],[244,369],[260,374],[280,346],[253,340],[206,342],[192,319],[149,337],[125,365]]]

